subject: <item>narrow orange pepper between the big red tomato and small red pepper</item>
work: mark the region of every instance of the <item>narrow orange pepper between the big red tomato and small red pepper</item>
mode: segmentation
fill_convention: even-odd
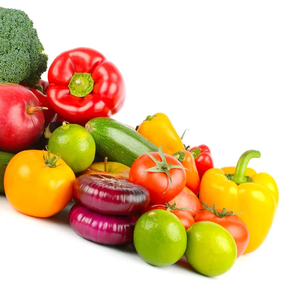
[[[183,165],[183,167],[186,168],[186,186],[198,195],[200,179],[192,153],[187,150],[181,150],[174,153],[173,157],[175,157]]]

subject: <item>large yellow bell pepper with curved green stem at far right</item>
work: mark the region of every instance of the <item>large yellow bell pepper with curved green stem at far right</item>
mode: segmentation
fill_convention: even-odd
[[[216,209],[240,212],[239,217],[249,231],[244,253],[255,251],[268,236],[279,201],[278,187],[270,174],[247,168],[251,158],[259,158],[256,150],[245,151],[236,167],[210,169],[204,173],[199,200]]]

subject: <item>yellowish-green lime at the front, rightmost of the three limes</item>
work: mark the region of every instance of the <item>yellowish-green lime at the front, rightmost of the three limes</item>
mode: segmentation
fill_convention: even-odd
[[[185,256],[199,273],[214,277],[228,271],[237,258],[232,235],[220,224],[198,221],[187,230]]]

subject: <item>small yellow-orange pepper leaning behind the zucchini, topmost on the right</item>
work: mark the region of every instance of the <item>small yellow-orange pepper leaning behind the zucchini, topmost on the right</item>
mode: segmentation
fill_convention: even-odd
[[[147,116],[146,120],[139,125],[138,132],[155,146],[162,145],[162,150],[167,154],[173,155],[179,150],[185,150],[170,119],[163,113]]]

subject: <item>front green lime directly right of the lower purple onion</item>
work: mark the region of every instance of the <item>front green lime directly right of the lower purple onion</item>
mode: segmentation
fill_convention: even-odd
[[[136,222],[134,245],[148,264],[169,266],[184,255],[187,234],[184,225],[175,215],[155,209],[146,212]]]

